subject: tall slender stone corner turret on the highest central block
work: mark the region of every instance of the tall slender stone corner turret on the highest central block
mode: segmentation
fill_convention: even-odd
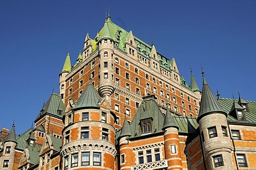
[[[114,40],[111,38],[109,30],[110,18],[104,24],[100,31],[101,36],[98,41],[99,45],[99,93],[101,96],[106,96],[110,99],[114,92]]]

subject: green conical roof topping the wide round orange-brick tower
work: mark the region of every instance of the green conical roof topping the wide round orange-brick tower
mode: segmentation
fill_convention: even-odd
[[[101,101],[101,97],[98,92],[95,90],[92,80],[90,80],[88,86],[84,90],[83,94],[78,98],[76,102],[75,109],[78,108],[90,108],[90,107],[100,107],[98,105]]]

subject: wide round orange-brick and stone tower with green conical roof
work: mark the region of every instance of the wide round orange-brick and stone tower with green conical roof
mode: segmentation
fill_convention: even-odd
[[[115,169],[116,116],[105,100],[90,80],[76,105],[66,113],[60,152],[62,169]]]

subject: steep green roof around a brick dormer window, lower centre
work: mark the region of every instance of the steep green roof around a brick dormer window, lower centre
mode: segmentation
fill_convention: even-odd
[[[156,129],[156,132],[162,131],[163,123],[164,123],[164,114],[161,112],[161,109],[158,107],[158,104],[156,103],[155,99],[156,98],[154,95],[143,97],[143,101],[140,107],[138,108],[138,111],[134,115],[130,125],[132,137],[134,137],[135,133],[138,135],[138,137],[143,135],[141,132],[140,121],[147,117],[150,118],[149,116],[151,116],[150,119],[152,120],[151,132],[146,134],[155,133],[155,129]],[[149,112],[145,112],[145,108],[148,109],[150,114]]]

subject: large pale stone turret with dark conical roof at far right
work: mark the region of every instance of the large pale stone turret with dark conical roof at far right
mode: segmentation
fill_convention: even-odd
[[[222,110],[207,84],[204,72],[201,107],[197,117],[207,169],[234,169],[227,113]]]

